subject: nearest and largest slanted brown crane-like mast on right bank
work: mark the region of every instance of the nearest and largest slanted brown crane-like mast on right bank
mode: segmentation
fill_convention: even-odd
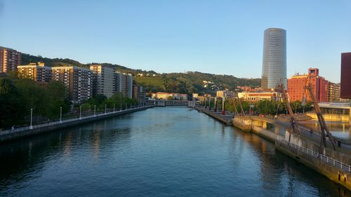
[[[333,149],[335,151],[336,141],[334,140],[333,135],[331,135],[328,127],[326,126],[326,122],[324,121],[321,108],[319,107],[319,102],[316,100],[316,97],[314,96],[314,93],[312,90],[312,86],[310,84],[310,76],[307,76],[307,79],[306,79],[305,91],[303,93],[303,105],[305,105],[305,102],[307,100],[307,97],[306,97],[307,94],[310,95],[310,102],[313,103],[314,111],[316,111],[319,125],[321,127],[321,141],[319,145],[319,153],[322,153],[322,147],[326,147],[326,137],[329,137],[329,140],[331,141],[331,144],[333,145]]]

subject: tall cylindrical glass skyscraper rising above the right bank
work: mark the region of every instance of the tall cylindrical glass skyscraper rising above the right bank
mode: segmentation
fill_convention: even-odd
[[[275,88],[284,83],[286,88],[286,31],[265,29],[261,88]]]

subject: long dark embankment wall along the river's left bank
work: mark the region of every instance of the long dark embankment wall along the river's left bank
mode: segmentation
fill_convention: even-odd
[[[101,119],[110,118],[113,116],[119,116],[122,114],[129,114],[135,111],[145,110],[147,108],[150,108],[150,107],[138,107],[135,109],[126,109],[122,111],[108,112],[106,114],[96,114],[95,116],[92,115],[92,116],[83,116],[81,118],[71,118],[71,119],[64,120],[62,122],[55,121],[51,123],[33,125],[32,128],[29,128],[29,126],[27,126],[23,128],[16,128],[15,130],[3,130],[3,131],[0,131],[0,144],[11,140],[18,140],[20,138],[29,137],[32,135],[48,133],[53,130],[68,128],[74,125],[80,125],[80,124],[84,124],[92,121],[98,121]]]

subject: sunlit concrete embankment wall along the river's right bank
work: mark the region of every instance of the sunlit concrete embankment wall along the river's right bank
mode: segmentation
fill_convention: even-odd
[[[205,114],[223,122],[220,115],[208,112],[206,109],[199,111],[203,111]],[[270,123],[274,124],[273,122]],[[323,149],[323,154],[319,154],[319,144],[307,139],[308,137],[305,135],[293,136],[291,138],[291,143],[288,143],[284,140],[284,137],[278,133],[274,133],[265,129],[264,126],[260,127],[253,123],[251,118],[238,116],[232,119],[232,124],[234,127],[244,132],[256,133],[256,135],[275,143],[275,147],[278,151],[282,151],[282,153],[291,156],[291,158],[294,158],[296,161],[303,163],[312,170],[319,172],[333,182],[351,191],[350,150],[343,148],[338,148],[337,151]],[[283,125],[281,124],[279,126]]]

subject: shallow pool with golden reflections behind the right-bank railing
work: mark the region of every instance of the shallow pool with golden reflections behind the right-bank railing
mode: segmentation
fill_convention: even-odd
[[[304,125],[307,125],[310,128],[320,130],[318,121],[305,121],[302,122]],[[331,131],[331,135],[336,137],[345,137],[351,139],[351,127],[350,123],[346,122],[326,122],[326,126]]]

